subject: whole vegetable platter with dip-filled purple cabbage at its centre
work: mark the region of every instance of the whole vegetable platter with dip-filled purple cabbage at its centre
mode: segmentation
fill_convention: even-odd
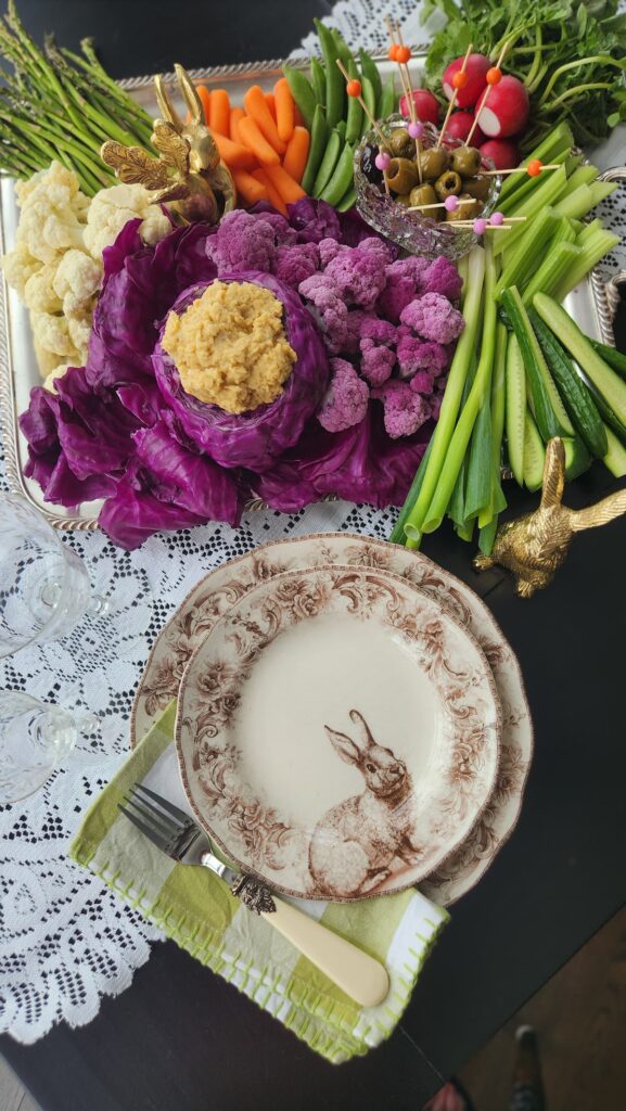
[[[14,38],[0,27],[0,47],[19,74],[12,84],[9,79],[0,106],[10,128],[0,148],[0,246],[12,287],[3,291],[0,321],[6,454],[10,480],[58,527],[98,521],[113,541],[136,547],[160,528],[207,519],[236,524],[242,508],[266,500],[291,512],[322,497],[380,507],[406,497],[394,539],[404,530],[403,542],[415,547],[440,517],[429,516],[423,529],[419,506],[406,516],[411,498],[418,491],[421,504],[429,497],[441,463],[453,473],[454,459],[463,459],[461,426],[473,434],[480,411],[471,440],[477,461],[468,471],[480,482],[474,500],[461,504],[457,497],[455,506],[460,512],[474,504],[487,482],[491,498],[487,492],[487,503],[476,504],[479,523],[489,517],[494,531],[494,504],[504,502],[499,478],[491,478],[499,476],[501,433],[491,437],[489,424],[489,447],[475,452],[488,416],[479,396],[494,353],[497,362],[505,350],[505,324],[520,350],[528,341],[530,378],[543,358],[521,298],[533,314],[533,293],[560,290],[554,296],[564,320],[612,343],[610,313],[592,268],[616,237],[599,220],[585,231],[582,218],[615,186],[583,167],[566,124],[531,152],[527,168],[516,168],[517,157],[498,162],[493,143],[471,148],[478,123],[487,136],[524,126],[524,106],[511,108],[508,87],[500,96],[504,51],[487,70],[468,46],[448,68],[449,104],[438,132],[416,114],[424,98],[426,110],[437,118],[441,111],[431,92],[414,92],[424,54],[393,38],[387,59],[354,56],[337,32],[316,26],[324,64],[222,67],[192,77],[177,64],[176,80],[158,77],[152,88],[151,79],[135,79],[122,92],[89,44],[82,57],[50,43],[38,53],[10,2],[7,28]],[[398,31],[390,26],[390,33]],[[468,62],[475,72],[466,73]],[[51,98],[42,126],[34,120],[41,72]],[[404,116],[395,114],[398,77]],[[458,119],[456,97],[465,90],[467,99],[473,81],[477,94],[480,83],[485,91],[468,137],[456,137],[446,130],[448,120]],[[517,79],[510,81],[513,88]],[[17,186],[11,172],[21,179]],[[514,177],[500,193],[503,174]],[[548,206],[558,201],[546,214],[544,196]],[[495,212],[497,201],[504,212]],[[541,220],[552,221],[558,273],[549,266],[552,251],[543,258]],[[491,231],[509,237],[487,234],[478,247]],[[519,244],[513,254],[508,243]],[[496,262],[500,250],[504,269]],[[454,260],[463,256],[457,270]],[[569,259],[576,266],[566,273]],[[506,288],[498,298],[500,269]],[[496,330],[498,312],[505,322]],[[548,341],[553,328],[567,343],[558,320],[544,318],[544,324]],[[484,336],[478,369],[477,328]],[[523,384],[520,368],[518,360]],[[539,380],[535,392],[525,392],[526,424],[536,432],[535,419],[541,434],[565,427],[556,387],[544,373],[554,397],[546,400]],[[564,388],[590,412],[590,387],[572,384],[573,374],[565,366]],[[600,370],[602,388],[605,377]],[[455,454],[446,458],[448,394],[464,381]],[[617,416],[609,411],[605,420],[617,421],[619,436],[626,431],[619,390],[615,398]],[[438,423],[441,407],[446,420]],[[603,457],[605,433],[600,417],[594,419],[590,450]],[[579,440],[564,421],[576,448]],[[524,429],[524,412],[517,426]],[[510,443],[521,481],[519,444]],[[448,494],[441,516],[447,504]],[[460,518],[459,534],[473,516]]]

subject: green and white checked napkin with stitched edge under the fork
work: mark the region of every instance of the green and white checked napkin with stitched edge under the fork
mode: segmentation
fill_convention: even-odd
[[[119,812],[118,802],[138,782],[189,810],[172,743],[175,720],[171,702],[87,813],[70,855],[322,1057],[339,1063],[367,1053],[399,1021],[447,911],[415,889],[360,903],[298,901],[387,967],[387,999],[360,1008],[212,872],[175,863]]]

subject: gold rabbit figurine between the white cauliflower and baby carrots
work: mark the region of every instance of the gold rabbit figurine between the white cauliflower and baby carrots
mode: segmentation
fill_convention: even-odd
[[[225,212],[235,208],[237,191],[205,123],[202,104],[191,78],[178,62],[175,70],[189,118],[187,122],[180,119],[162,77],[156,77],[155,92],[163,118],[155,120],[152,146],[159,157],[153,158],[141,147],[125,147],[112,140],[102,144],[100,157],[120,181],[155,190],[155,203],[167,201],[183,222],[217,223]]]

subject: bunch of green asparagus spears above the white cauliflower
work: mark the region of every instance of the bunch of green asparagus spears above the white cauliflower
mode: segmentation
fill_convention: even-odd
[[[28,178],[58,159],[92,197],[113,182],[100,160],[107,139],[150,149],[152,121],[102,68],[90,39],[82,54],[43,50],[23,27],[14,4],[0,20],[0,171]]]

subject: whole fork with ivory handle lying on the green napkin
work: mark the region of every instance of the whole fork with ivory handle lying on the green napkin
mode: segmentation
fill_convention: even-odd
[[[278,930],[360,1007],[376,1007],[382,1002],[389,991],[389,977],[380,961],[279,899],[259,880],[225,864],[215,855],[208,835],[190,814],[141,784],[132,787],[123,803],[118,805],[129,821],[172,860],[200,864],[215,872],[250,911]]]

